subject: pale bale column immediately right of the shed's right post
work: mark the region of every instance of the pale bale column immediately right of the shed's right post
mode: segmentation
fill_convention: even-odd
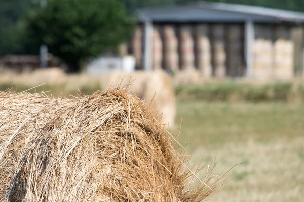
[[[254,77],[258,80],[273,78],[273,42],[272,28],[256,25],[254,41]]]

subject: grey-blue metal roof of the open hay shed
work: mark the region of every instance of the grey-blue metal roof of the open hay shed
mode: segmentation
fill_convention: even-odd
[[[140,22],[304,22],[302,12],[215,2],[143,8],[138,10],[138,17]]]

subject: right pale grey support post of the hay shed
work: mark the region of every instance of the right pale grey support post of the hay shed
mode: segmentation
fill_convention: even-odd
[[[246,76],[252,78],[253,70],[253,45],[254,45],[254,23],[247,20],[245,23],[245,60],[246,60]]]

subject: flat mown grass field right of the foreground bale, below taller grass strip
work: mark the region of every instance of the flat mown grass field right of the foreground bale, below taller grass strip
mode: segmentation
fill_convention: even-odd
[[[179,142],[193,163],[232,180],[210,201],[304,201],[304,105],[179,101]]]

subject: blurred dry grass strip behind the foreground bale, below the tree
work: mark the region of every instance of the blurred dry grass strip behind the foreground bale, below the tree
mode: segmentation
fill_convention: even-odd
[[[75,91],[80,89],[83,93],[92,94],[100,89],[100,80],[106,76],[92,76],[87,74],[65,74],[59,68],[38,69],[34,72],[25,72],[17,74],[6,72],[0,74],[1,90],[11,89],[12,91],[22,92],[34,86],[44,84],[42,87],[36,87],[31,93],[41,92],[56,97],[75,95]],[[51,90],[49,93],[48,91]]]

